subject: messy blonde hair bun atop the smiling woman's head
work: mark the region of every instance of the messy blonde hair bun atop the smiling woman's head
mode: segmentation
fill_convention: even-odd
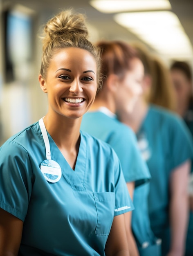
[[[88,37],[85,17],[81,13],[74,13],[72,9],[61,11],[57,16],[50,19],[45,26],[44,32],[45,37],[47,37],[47,40],[49,38],[50,41],[58,36],[68,37],[70,34]]]

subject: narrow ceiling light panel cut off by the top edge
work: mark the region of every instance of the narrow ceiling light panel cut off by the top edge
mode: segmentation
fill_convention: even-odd
[[[92,0],[90,5],[103,13],[171,9],[168,0]]]

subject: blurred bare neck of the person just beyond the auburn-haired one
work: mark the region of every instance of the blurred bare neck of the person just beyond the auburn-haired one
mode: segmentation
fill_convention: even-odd
[[[140,97],[132,112],[121,112],[118,113],[118,115],[121,122],[130,126],[130,128],[137,133],[142,122],[144,121],[144,118],[146,117],[147,112],[148,104],[144,101],[144,99],[142,99],[142,97]]]

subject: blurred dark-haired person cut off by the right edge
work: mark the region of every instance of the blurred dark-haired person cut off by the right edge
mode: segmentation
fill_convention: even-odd
[[[170,67],[177,102],[176,112],[193,135],[193,79],[191,66],[186,61],[174,61]],[[193,255],[193,168],[189,179],[190,218],[186,238],[186,256]]]

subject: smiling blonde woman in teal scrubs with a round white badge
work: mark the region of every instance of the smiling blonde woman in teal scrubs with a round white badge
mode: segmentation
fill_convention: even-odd
[[[100,88],[85,19],[45,25],[40,87],[48,112],[0,147],[0,256],[128,256],[133,204],[114,150],[80,132]]]

